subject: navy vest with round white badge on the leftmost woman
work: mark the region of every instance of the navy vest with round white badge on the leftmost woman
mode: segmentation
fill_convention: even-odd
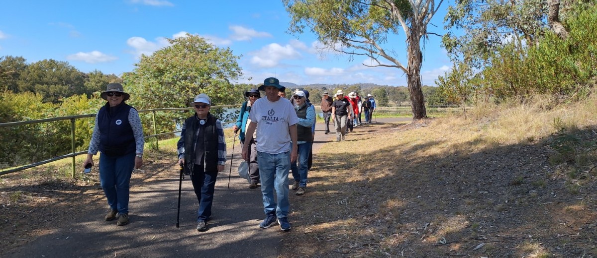
[[[128,122],[131,108],[133,107],[124,102],[112,108],[106,103],[97,112],[97,126],[100,129],[99,150],[102,154],[122,156],[136,150],[133,128]]]

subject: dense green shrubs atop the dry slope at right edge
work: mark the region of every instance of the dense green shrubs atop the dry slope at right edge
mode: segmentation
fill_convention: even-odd
[[[452,72],[438,78],[442,94],[459,103],[466,101],[463,96],[467,94],[485,95],[486,101],[537,94],[586,97],[597,79],[597,29],[587,26],[597,24],[597,7],[577,5],[567,11],[567,17],[567,39],[550,30],[541,33],[533,45],[514,38],[487,52],[482,57],[486,65],[476,74],[470,72],[474,65],[464,58]]]

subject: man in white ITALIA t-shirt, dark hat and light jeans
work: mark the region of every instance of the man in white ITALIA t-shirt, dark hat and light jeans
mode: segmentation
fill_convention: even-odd
[[[293,105],[278,93],[286,88],[278,79],[269,77],[258,88],[265,92],[265,98],[256,100],[251,108],[251,123],[245,135],[253,135],[257,128],[257,160],[259,160],[259,176],[261,194],[266,218],[259,224],[260,228],[269,228],[276,223],[282,231],[290,230],[288,212],[288,171],[290,164],[297,160],[297,126],[298,117]],[[259,126],[257,126],[259,125]],[[249,160],[249,138],[245,137],[242,158]],[[277,203],[273,197],[276,191]]]

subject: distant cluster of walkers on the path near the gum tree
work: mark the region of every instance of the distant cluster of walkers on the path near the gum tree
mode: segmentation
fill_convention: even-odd
[[[371,94],[367,94],[363,101],[357,92],[350,92],[347,96],[344,96],[341,89],[338,89],[335,97],[336,100],[330,97],[330,92],[326,91],[321,98],[325,134],[330,133],[330,120],[333,118],[336,141],[344,141],[344,136],[347,133],[352,132],[355,126],[362,125],[362,113],[365,113],[365,124],[371,123],[376,103]]]

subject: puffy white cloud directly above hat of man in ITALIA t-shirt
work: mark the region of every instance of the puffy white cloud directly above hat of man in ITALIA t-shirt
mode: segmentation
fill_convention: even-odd
[[[300,53],[291,45],[279,45],[278,43],[271,43],[264,46],[259,51],[250,53],[253,55],[251,63],[260,67],[274,67],[277,66],[281,60],[300,58]]]

